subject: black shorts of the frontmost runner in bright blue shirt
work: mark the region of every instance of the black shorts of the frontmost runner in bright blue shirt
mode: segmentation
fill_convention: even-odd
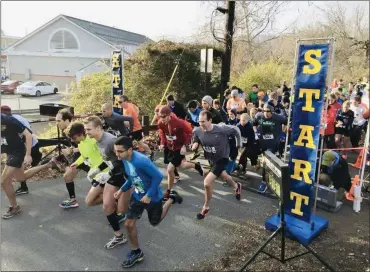
[[[163,210],[162,201],[144,204],[139,200],[136,200],[134,197],[131,197],[127,218],[138,219],[143,214],[144,209],[148,212],[149,223],[152,226],[157,226],[161,222]]]

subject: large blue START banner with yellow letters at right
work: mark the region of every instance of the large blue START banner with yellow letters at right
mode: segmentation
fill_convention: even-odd
[[[329,44],[300,45],[298,52],[285,212],[310,221]]]

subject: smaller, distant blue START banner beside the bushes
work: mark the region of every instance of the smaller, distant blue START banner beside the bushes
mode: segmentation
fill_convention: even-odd
[[[123,94],[123,52],[115,50],[111,58],[112,75],[112,93],[113,93],[113,111],[122,114],[119,107],[119,96]]]

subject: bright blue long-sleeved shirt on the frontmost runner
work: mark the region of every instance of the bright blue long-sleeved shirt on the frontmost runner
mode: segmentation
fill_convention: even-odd
[[[132,197],[138,201],[145,195],[151,198],[151,202],[162,200],[163,192],[160,184],[163,174],[148,157],[133,151],[131,160],[123,160],[122,162],[127,180],[121,187],[121,191],[126,192],[133,188]]]

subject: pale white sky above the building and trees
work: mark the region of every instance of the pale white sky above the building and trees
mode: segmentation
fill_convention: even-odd
[[[6,35],[23,37],[59,14],[65,14],[139,33],[153,40],[186,40],[210,22],[216,4],[205,2],[1,1],[1,29]],[[348,5],[352,5],[350,3],[347,1]],[[315,2],[315,5],[323,6],[325,3]],[[297,16],[300,17],[300,25],[307,24],[315,14],[317,9],[309,1],[292,2],[279,16],[274,29],[283,29]]]

